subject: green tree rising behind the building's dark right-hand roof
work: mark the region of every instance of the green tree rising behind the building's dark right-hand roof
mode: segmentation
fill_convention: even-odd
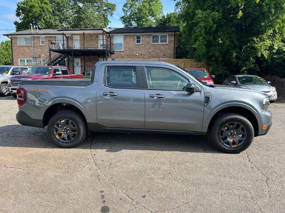
[[[125,27],[153,27],[163,14],[161,0],[127,0],[120,17]]]

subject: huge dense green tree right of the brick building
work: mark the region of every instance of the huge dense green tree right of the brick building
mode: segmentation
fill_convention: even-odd
[[[285,0],[180,0],[187,56],[224,79],[258,72],[284,38]]]

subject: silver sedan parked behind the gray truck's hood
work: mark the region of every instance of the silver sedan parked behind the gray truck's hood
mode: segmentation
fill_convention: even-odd
[[[235,75],[228,77],[226,80],[223,81],[222,84],[227,86],[262,91],[268,95],[270,102],[273,103],[277,99],[277,92],[275,87],[272,87],[270,83],[270,81],[266,81],[259,76]]]

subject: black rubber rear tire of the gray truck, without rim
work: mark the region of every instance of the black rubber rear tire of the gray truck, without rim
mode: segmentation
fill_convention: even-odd
[[[72,122],[74,122],[77,127],[77,130],[79,131],[76,137],[74,138],[74,140],[71,142],[62,142],[62,141],[59,141],[59,139],[55,137],[55,134],[53,131],[54,125],[59,119],[63,119],[63,118],[67,118],[71,120]],[[51,138],[51,141],[55,143],[56,145],[62,148],[72,148],[72,147],[78,146],[85,140],[85,137],[87,135],[87,124],[84,118],[77,112],[72,111],[72,110],[65,110],[65,111],[58,112],[51,117],[47,125],[47,132],[48,132],[49,137]]]

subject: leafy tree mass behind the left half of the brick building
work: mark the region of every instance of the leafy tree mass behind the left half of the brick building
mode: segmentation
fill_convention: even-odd
[[[23,0],[17,3],[16,29],[27,29],[30,23],[39,29],[100,28],[109,24],[116,4],[106,0]]]

